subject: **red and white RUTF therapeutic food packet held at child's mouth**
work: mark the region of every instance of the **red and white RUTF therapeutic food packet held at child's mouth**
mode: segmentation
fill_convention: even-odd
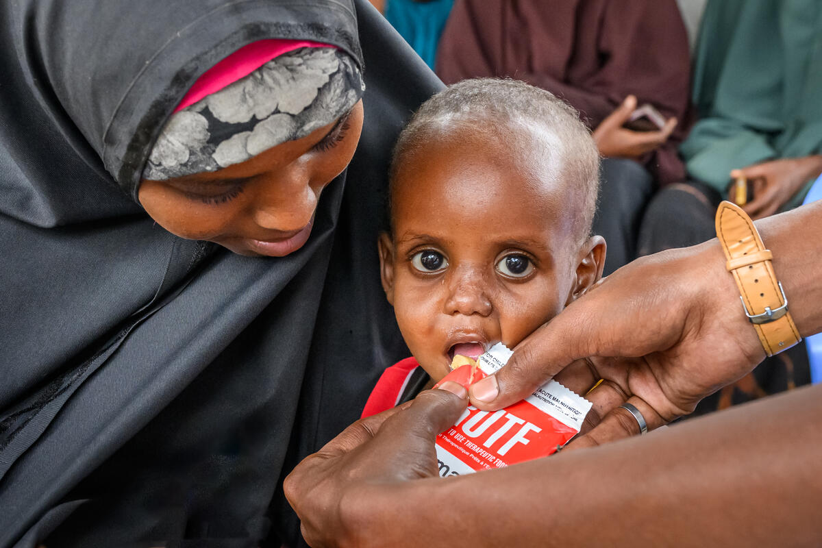
[[[474,371],[461,366],[440,384],[455,380],[467,388],[506,365],[512,353],[504,344],[495,344],[478,358]],[[580,431],[590,408],[588,400],[555,380],[496,412],[469,406],[454,426],[436,437],[440,476],[501,468],[555,453]]]

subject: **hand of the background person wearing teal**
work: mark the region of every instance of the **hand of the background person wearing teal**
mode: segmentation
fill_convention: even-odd
[[[754,199],[742,206],[753,219],[776,213],[810,179],[822,173],[822,156],[785,158],[734,169],[731,178],[746,177],[754,185]],[[729,192],[729,196],[733,190]],[[731,198],[731,201],[732,198]]]

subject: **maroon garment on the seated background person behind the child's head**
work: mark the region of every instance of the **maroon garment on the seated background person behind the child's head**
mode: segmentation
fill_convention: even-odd
[[[680,123],[646,166],[681,181],[690,127],[690,53],[675,0],[456,0],[437,50],[451,84],[510,76],[566,99],[597,127],[628,94]]]

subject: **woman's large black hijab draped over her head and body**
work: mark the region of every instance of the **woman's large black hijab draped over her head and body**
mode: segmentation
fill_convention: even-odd
[[[343,48],[367,90],[307,245],[261,259],[134,196],[197,76],[270,38]],[[282,477],[407,353],[376,234],[390,147],[439,85],[363,0],[0,3],[0,546],[298,542]]]

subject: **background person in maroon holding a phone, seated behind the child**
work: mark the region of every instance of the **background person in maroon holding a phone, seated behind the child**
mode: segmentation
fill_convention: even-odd
[[[608,242],[606,274],[635,257],[653,191],[685,178],[677,146],[689,125],[690,53],[677,2],[458,0],[436,72],[446,84],[510,76],[579,110],[607,158],[593,225]],[[653,131],[626,129],[644,104],[667,122]]]

